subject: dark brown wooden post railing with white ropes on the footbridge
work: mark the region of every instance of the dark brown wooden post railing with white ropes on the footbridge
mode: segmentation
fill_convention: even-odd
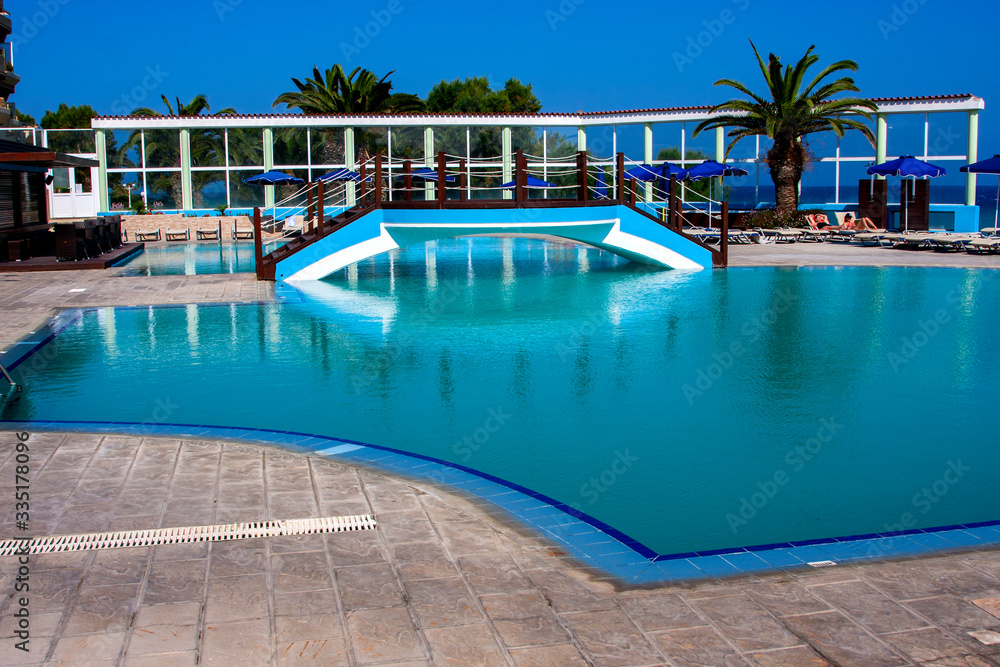
[[[618,153],[614,161],[580,151],[540,160],[516,151],[509,160],[458,157],[440,152],[437,159],[415,162],[376,153],[357,166],[353,180],[310,183],[304,222],[287,246],[263,255],[261,215],[254,209],[258,277],[273,279],[274,266],[290,253],[350,224],[376,208],[551,208],[626,205],[712,252],[713,263],[728,261],[728,205],[721,203],[718,235],[699,235],[705,214],[685,203],[687,186],[674,178],[662,183],[637,182],[628,168],[639,164]],[[506,179],[506,180],[505,180]],[[700,193],[693,193],[701,197]],[[714,202],[713,202],[714,203]],[[687,208],[685,208],[687,206]],[[711,211],[711,209],[709,209]],[[714,218],[709,212],[708,226]],[[709,245],[708,240],[717,240]]]

